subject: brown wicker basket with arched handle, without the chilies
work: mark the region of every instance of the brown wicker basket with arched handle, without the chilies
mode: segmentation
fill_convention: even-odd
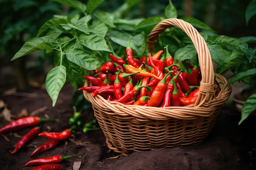
[[[159,22],[148,35],[148,49],[154,50],[159,33],[171,26],[182,29],[191,38],[198,53],[202,81],[200,95],[195,104],[181,107],[148,107],[109,102],[100,95],[92,97],[83,91],[92,103],[108,148],[126,155],[154,148],[171,148],[200,144],[211,132],[222,105],[231,94],[231,86],[224,88],[227,79],[216,78],[221,91],[213,97],[214,75],[211,55],[198,31],[183,20],[171,18]],[[85,86],[90,86],[85,81]]]

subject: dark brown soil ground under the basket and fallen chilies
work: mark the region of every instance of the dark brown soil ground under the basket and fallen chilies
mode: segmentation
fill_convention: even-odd
[[[68,119],[73,116],[72,93],[70,85],[64,86],[55,107],[52,107],[52,100],[45,89],[41,88],[3,92],[0,100],[11,112],[12,119],[21,115],[58,118],[59,122],[45,122],[42,131],[61,132],[70,127]],[[3,109],[0,110],[0,127],[8,123]],[[88,117],[92,110],[83,114]],[[211,134],[202,144],[134,152],[127,156],[109,150],[101,130],[83,133],[82,129],[76,130],[70,139],[52,150],[32,158],[29,156],[31,152],[49,139],[37,136],[12,155],[10,152],[19,137],[31,129],[25,128],[4,134],[6,138],[0,136],[0,169],[29,170],[35,167],[25,167],[31,159],[80,155],[81,158],[72,157],[59,165],[63,170],[73,170],[74,163],[81,163],[79,170],[253,170],[256,169],[256,116],[250,117],[241,126],[238,126],[239,120],[240,113],[232,105],[224,105]]]

